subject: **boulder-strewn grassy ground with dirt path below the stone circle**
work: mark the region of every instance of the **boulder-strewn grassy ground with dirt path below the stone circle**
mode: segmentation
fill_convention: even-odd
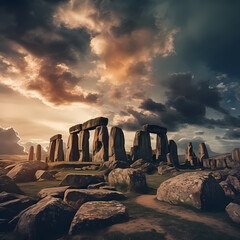
[[[1,166],[0,239],[240,239],[236,169],[164,166],[156,172],[139,161],[130,170],[122,163],[102,168],[32,163],[22,170],[11,161]],[[171,188],[181,181],[178,194],[167,192],[176,193]],[[210,194],[212,186],[222,186],[218,199]],[[206,208],[213,201],[220,209]]]

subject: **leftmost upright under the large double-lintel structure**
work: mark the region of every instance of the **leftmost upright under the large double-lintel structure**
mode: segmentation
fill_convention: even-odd
[[[66,161],[74,162],[79,159],[78,136],[77,133],[71,133],[68,137]]]

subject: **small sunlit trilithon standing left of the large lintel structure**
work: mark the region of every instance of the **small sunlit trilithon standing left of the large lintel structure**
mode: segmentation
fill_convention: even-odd
[[[54,161],[63,161],[63,140],[62,134],[56,134],[50,138],[50,144],[48,149],[48,154],[46,161],[54,162]]]

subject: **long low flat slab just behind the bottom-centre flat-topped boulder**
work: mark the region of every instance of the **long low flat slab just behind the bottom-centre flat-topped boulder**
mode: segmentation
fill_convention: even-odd
[[[64,194],[64,201],[77,209],[85,202],[125,199],[121,192],[103,189],[68,189]]]

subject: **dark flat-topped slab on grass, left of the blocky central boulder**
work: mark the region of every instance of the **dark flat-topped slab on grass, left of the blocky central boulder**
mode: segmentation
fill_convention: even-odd
[[[102,175],[90,174],[68,174],[60,183],[60,186],[70,186],[71,188],[87,188],[90,184],[104,182]]]

